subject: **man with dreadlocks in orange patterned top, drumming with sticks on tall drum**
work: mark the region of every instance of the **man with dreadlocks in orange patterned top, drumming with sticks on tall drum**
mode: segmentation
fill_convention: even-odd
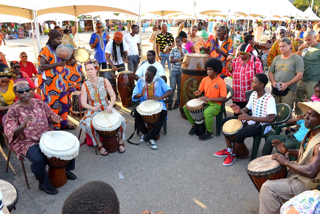
[[[216,37],[211,42],[211,50],[209,48],[200,48],[204,50],[206,54],[210,54],[210,57],[218,58],[222,62],[221,76],[226,77],[227,57],[233,55],[233,42],[228,37],[229,29],[227,25],[220,25],[216,31]]]

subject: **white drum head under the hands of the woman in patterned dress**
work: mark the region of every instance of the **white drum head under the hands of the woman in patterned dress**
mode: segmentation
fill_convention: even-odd
[[[93,117],[92,126],[99,131],[113,131],[121,126],[121,117],[117,112],[101,111]]]

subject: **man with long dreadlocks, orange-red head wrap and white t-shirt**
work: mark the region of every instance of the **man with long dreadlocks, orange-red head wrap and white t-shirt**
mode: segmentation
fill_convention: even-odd
[[[128,63],[127,43],[122,39],[123,34],[121,32],[115,32],[113,39],[107,43],[106,60],[108,62],[108,68],[112,68],[114,71],[124,71],[124,62]]]

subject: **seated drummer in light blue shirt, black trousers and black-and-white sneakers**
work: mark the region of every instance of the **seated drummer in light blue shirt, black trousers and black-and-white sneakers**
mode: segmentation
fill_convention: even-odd
[[[145,76],[137,81],[137,85],[132,92],[132,101],[140,100],[140,103],[142,103],[145,100],[157,100],[163,105],[159,123],[153,128],[150,135],[148,135],[148,129],[141,119],[141,115],[138,113],[137,109],[134,110],[134,118],[142,132],[140,143],[146,141],[152,149],[158,148],[155,142],[156,136],[160,133],[168,113],[163,99],[172,94],[172,88],[170,88],[162,78],[156,77],[156,73],[156,67],[150,65],[147,68]]]

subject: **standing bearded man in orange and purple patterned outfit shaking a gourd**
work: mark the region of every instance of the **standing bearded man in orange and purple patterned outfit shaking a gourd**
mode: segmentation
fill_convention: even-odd
[[[49,40],[38,56],[40,71],[38,73],[39,88],[42,100],[47,103],[62,121],[55,125],[55,129],[75,129],[75,125],[68,124],[68,75],[66,62],[56,54],[56,48],[61,44],[62,34],[57,29],[48,33]]]

